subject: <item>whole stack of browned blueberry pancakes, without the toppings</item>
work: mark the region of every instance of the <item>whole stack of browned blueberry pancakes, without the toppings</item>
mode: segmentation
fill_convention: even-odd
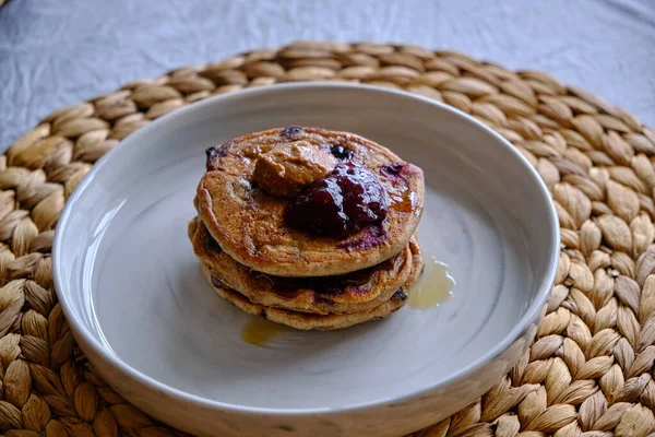
[[[378,175],[390,199],[382,223],[338,238],[289,226],[284,212],[291,200],[271,194],[253,176],[262,154],[289,142],[338,147],[336,158]],[[213,288],[242,310],[296,329],[341,329],[405,304],[422,271],[415,232],[424,191],[418,167],[372,141],[317,128],[272,129],[207,150],[189,238]]]

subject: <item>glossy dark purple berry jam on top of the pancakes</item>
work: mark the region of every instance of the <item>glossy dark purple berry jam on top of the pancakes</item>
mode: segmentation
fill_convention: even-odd
[[[286,208],[289,226],[343,238],[367,226],[382,223],[389,196],[369,169],[346,162],[325,178],[307,187]]]

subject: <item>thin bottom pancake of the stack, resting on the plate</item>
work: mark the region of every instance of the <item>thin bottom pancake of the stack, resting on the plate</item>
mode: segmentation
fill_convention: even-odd
[[[420,273],[422,272],[424,261],[420,252],[414,253],[412,262],[413,265],[409,279],[403,285],[403,287],[393,294],[389,300],[382,303],[376,308],[361,312],[329,315],[298,312],[283,308],[265,307],[263,305],[253,304],[242,294],[228,288],[225,284],[213,279],[211,270],[204,264],[203,271],[216,293],[246,312],[262,316],[273,322],[286,324],[298,330],[331,331],[348,328],[371,320],[383,319],[403,307],[403,305],[405,305],[407,302],[409,293],[412,292],[412,286],[416,283],[420,276]]]

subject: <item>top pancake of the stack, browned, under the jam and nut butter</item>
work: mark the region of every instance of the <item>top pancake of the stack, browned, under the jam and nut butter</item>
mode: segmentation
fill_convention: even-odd
[[[307,141],[319,147],[342,145],[349,160],[373,172],[391,203],[381,225],[344,239],[317,236],[287,226],[283,213],[290,201],[252,184],[260,154],[276,145]],[[279,276],[344,274],[378,264],[409,243],[422,213],[425,187],[420,168],[361,137],[318,128],[284,128],[251,133],[207,153],[207,172],[194,200],[207,231],[238,262]]]

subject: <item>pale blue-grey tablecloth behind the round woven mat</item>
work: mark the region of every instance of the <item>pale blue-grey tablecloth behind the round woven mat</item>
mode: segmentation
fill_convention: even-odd
[[[454,48],[548,71],[655,126],[652,0],[9,0],[0,147],[126,82],[295,39]]]

